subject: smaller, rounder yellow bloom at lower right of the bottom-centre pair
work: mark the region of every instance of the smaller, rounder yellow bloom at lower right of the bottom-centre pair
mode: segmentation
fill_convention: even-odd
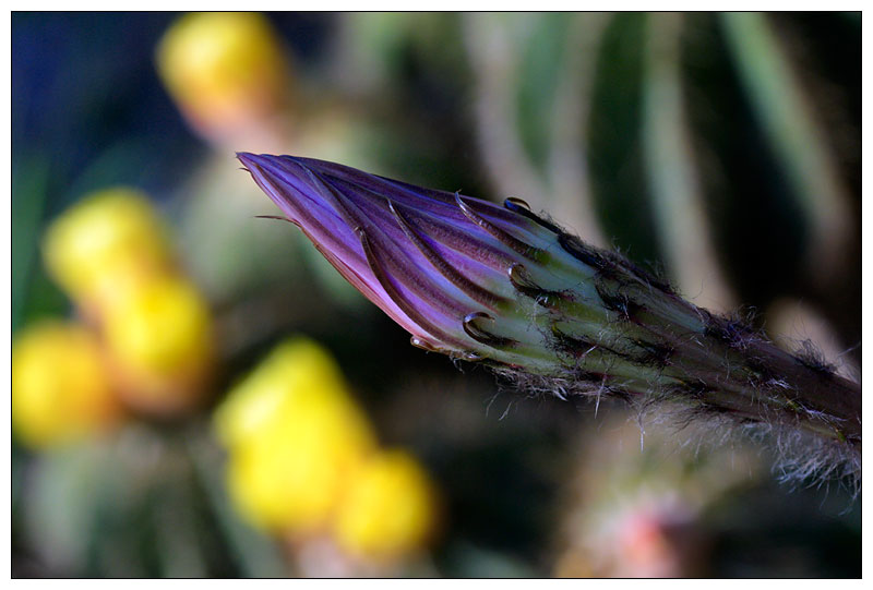
[[[337,542],[349,553],[376,559],[421,549],[436,523],[434,497],[410,455],[376,455],[349,482],[335,522]]]

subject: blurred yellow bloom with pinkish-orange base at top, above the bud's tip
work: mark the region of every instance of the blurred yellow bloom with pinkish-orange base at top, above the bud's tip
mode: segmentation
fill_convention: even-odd
[[[158,45],[157,68],[182,112],[207,136],[282,110],[290,88],[289,60],[255,13],[180,17]]]

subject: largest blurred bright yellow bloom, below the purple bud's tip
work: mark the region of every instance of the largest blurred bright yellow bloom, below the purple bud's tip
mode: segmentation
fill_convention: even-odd
[[[349,474],[375,448],[335,362],[306,339],[279,345],[235,387],[215,428],[228,446],[234,502],[274,532],[326,527]]]

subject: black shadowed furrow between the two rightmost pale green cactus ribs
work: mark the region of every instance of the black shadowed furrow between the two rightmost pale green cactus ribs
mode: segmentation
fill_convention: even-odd
[[[765,306],[802,267],[803,216],[756,124],[716,14],[690,14],[682,75],[698,177],[739,299]]]

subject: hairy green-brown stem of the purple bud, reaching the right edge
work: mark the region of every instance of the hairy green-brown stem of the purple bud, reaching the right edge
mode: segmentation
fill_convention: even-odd
[[[558,242],[582,264],[548,266],[555,284],[576,288],[551,298],[539,317],[554,336],[551,369],[541,361],[518,369],[558,377],[563,388],[570,381],[579,392],[668,398],[740,422],[800,429],[860,455],[859,384],[694,306],[620,256],[566,234]],[[530,280],[522,291],[538,292]]]

